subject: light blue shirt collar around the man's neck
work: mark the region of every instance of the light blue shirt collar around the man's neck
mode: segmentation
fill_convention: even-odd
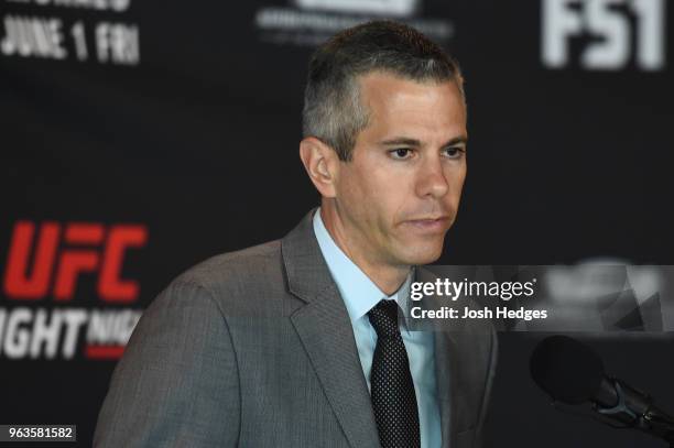
[[[387,296],[335,243],[323,223],[320,208],[314,214],[314,233],[318,240],[323,258],[344,299],[351,323],[363,317],[382,298],[398,302],[406,317],[413,270],[410,270],[402,286],[391,296]],[[404,319],[402,320],[404,323]]]

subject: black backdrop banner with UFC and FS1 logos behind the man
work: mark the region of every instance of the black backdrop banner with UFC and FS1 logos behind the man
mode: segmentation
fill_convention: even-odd
[[[577,266],[634,266],[617,291],[644,293],[609,316],[611,331],[601,314],[598,327],[543,330],[589,339],[674,409],[674,323],[652,301],[674,264],[673,10],[0,0],[0,424],[77,425],[89,446],[116,362],[163,287],[281,238],[318,204],[297,155],[308,56],[383,17],[441,43],[466,77],[469,174],[438,263],[553,265],[547,285],[569,301],[593,287]],[[501,329],[489,446],[660,446],[547,413],[528,371],[545,331]]]

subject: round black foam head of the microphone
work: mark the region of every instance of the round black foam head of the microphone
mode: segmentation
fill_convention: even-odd
[[[567,336],[543,339],[531,354],[531,376],[553,400],[566,404],[590,401],[605,378],[595,351]]]

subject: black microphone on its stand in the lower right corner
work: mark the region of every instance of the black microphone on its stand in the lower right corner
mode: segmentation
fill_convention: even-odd
[[[529,368],[554,402],[591,403],[599,419],[613,427],[633,427],[674,444],[674,418],[655,407],[648,394],[606,375],[601,358],[586,345],[567,336],[545,338],[532,352]]]

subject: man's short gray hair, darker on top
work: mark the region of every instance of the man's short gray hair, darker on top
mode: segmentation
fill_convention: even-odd
[[[303,136],[315,136],[350,161],[369,112],[360,101],[358,77],[390,73],[420,83],[454,80],[464,95],[458,64],[415,29],[388,20],[341,31],[314,52],[308,66]]]

